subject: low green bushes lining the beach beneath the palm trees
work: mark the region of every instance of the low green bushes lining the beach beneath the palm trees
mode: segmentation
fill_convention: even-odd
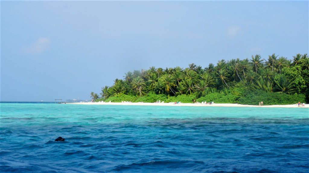
[[[130,95],[118,95],[112,96],[108,99],[98,99],[98,101],[105,102],[144,102],[144,103],[154,103],[156,101],[164,101],[165,103],[169,102],[181,102],[181,103],[194,103],[194,100],[197,102],[214,102],[214,103],[238,103],[244,105],[258,105],[259,102],[263,101],[264,105],[286,105],[286,104],[295,104],[298,102],[305,103],[305,95],[303,94],[282,94],[282,93],[273,93],[266,92],[261,90],[256,91],[247,91],[245,94],[234,95],[232,93],[210,93],[204,97],[196,99],[195,94],[191,95],[178,95],[167,97],[165,95],[157,95],[155,93],[148,93],[143,97],[130,96]]]

